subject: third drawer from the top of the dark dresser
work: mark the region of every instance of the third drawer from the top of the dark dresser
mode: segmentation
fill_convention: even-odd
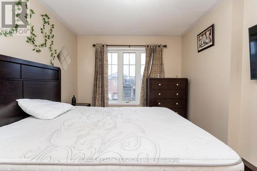
[[[185,99],[152,99],[151,107],[185,108]]]

